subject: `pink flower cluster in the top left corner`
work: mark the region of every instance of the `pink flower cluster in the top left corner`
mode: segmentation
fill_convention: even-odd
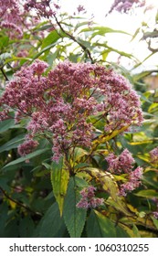
[[[4,33],[11,39],[22,38],[24,33],[30,33],[32,27],[36,27],[40,22],[36,7],[43,14],[48,13],[48,0],[45,1],[24,1],[24,0],[5,0],[0,1],[0,28],[4,29]],[[57,9],[57,5],[55,7]],[[33,11],[32,11],[33,10]],[[49,15],[52,12],[49,11]],[[46,16],[46,15],[45,15]],[[38,36],[42,37],[42,32],[38,32]],[[34,35],[35,31],[33,31]]]

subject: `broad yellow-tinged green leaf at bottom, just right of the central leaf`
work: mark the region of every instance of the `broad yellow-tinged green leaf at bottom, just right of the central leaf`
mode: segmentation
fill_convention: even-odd
[[[91,210],[87,223],[89,238],[125,238],[129,235],[119,226],[100,214],[97,210]]]

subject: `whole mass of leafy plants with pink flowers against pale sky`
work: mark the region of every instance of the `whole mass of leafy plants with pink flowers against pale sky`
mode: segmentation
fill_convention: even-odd
[[[0,2],[0,236],[157,237],[158,91],[143,81],[157,67],[133,72],[142,63],[106,39],[128,33],[81,5],[68,16],[53,1]],[[148,58],[157,20],[131,36]]]

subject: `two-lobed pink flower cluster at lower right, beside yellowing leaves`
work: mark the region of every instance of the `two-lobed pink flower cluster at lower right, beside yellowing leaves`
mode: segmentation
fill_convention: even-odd
[[[108,171],[116,175],[128,175],[128,181],[123,184],[119,184],[119,194],[121,196],[126,196],[127,192],[130,192],[141,185],[140,179],[142,178],[142,168],[138,166],[135,170],[132,170],[134,159],[132,158],[132,154],[127,149],[125,149],[119,156],[114,154],[108,155],[106,160],[109,164]]]

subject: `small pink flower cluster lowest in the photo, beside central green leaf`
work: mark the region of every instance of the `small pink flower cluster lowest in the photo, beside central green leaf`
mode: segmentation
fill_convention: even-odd
[[[96,187],[90,186],[80,191],[81,199],[77,204],[78,208],[97,208],[103,205],[104,199],[95,197]]]

